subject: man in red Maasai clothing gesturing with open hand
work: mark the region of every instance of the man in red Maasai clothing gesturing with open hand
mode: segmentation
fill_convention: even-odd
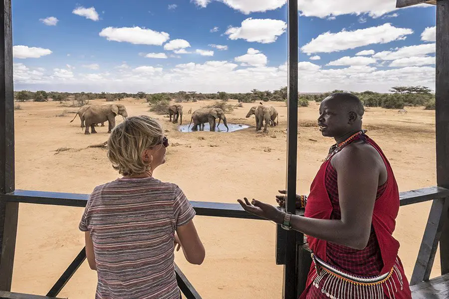
[[[246,211],[307,235],[313,262],[300,299],[412,298],[392,236],[398,185],[384,153],[362,130],[363,113],[362,102],[349,93],[321,102],[321,134],[336,144],[310,194],[296,196],[304,217],[255,199],[237,200]],[[276,197],[283,206],[285,195]]]

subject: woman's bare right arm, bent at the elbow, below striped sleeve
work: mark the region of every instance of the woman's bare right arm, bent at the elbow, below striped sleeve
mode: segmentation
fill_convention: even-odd
[[[206,256],[203,243],[198,236],[193,220],[176,229],[186,260],[191,264],[201,265]]]

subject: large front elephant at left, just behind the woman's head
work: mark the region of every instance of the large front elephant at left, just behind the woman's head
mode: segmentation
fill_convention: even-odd
[[[106,104],[101,106],[90,106],[82,115],[86,124],[86,130],[84,134],[89,133],[89,127],[92,129],[92,134],[97,133],[95,131],[95,124],[104,123],[108,121],[108,133],[115,127],[115,117],[121,115],[123,119],[128,117],[126,108],[123,104]]]

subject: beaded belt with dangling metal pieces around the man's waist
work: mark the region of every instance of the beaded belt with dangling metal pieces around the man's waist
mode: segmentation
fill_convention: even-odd
[[[402,275],[396,264],[383,275],[361,277],[344,273],[319,259],[313,253],[311,256],[316,270],[312,285],[319,289],[324,280],[321,293],[330,299],[383,299],[384,290],[387,292],[385,294],[389,295],[388,298],[395,299],[398,287],[395,280],[392,279],[393,275],[396,275],[400,289],[403,290]],[[396,263],[398,263],[398,259],[396,259]]]

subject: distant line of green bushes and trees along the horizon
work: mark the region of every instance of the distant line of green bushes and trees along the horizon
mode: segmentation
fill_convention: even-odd
[[[334,90],[326,93],[305,94],[300,93],[298,98],[299,106],[308,106],[309,101],[321,102],[331,93],[343,92],[342,90]],[[435,109],[435,94],[425,86],[395,86],[390,90],[391,93],[377,93],[373,91],[351,92],[357,95],[366,107],[383,107],[387,109],[402,109],[404,106],[424,106],[426,109]],[[14,99],[17,102],[25,102],[34,100],[36,102],[46,102],[48,99],[53,101],[74,101],[79,105],[88,103],[93,99],[105,99],[106,101],[120,101],[124,98],[145,99],[150,105],[160,102],[168,102],[175,100],[176,102],[196,102],[199,100],[237,100],[243,103],[253,103],[260,101],[279,101],[287,100],[287,87],[277,90],[259,91],[251,90],[247,93],[226,93],[220,91],[217,93],[198,93],[196,91],[179,91],[176,93],[155,93],[147,94],[145,92],[138,93],[68,93],[68,92],[46,92],[27,90],[14,92]]]

